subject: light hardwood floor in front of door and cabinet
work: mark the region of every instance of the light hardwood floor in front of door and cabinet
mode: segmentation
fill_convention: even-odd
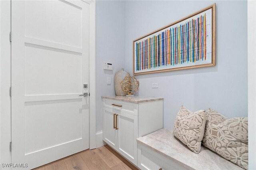
[[[130,162],[105,145],[85,150],[34,170],[138,170]]]

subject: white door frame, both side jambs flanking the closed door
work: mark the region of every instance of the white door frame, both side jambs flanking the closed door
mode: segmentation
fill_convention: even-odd
[[[89,13],[89,85],[90,85],[90,149],[96,148],[96,59],[95,59],[95,0],[88,3]],[[0,162],[11,163],[11,1],[0,0]],[[22,163],[22,162],[16,162]],[[26,162],[23,162],[26,163]],[[0,165],[0,169],[2,166]],[[6,169],[6,168],[5,168]]]

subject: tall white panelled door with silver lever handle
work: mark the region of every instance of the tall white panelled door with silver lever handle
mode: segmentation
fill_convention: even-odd
[[[89,148],[88,17],[82,1],[12,1],[12,163]]]

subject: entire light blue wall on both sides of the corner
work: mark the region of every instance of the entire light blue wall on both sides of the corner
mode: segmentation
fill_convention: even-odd
[[[181,105],[248,115],[246,1],[96,1],[96,130],[102,129],[101,96],[114,95],[114,73],[132,74],[132,41],[216,3],[216,66],[138,75],[140,96],[164,97],[164,127],[172,129]],[[103,62],[114,71],[103,70]],[[106,77],[112,85],[106,85]],[[151,84],[158,83],[158,89]]]

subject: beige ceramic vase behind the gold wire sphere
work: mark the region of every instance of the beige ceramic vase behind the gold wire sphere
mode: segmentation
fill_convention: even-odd
[[[124,93],[122,91],[121,81],[127,75],[130,76],[130,74],[127,71],[124,71],[124,69],[121,69],[121,71],[116,72],[115,77],[114,77],[116,96],[125,96],[126,95],[126,93]]]

